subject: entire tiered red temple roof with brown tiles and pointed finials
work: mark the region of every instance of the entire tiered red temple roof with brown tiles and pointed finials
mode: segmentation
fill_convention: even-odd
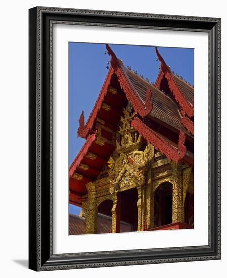
[[[174,74],[164,59],[155,84],[124,66],[109,45],[111,67],[85,124],[83,112],[78,136],[86,139],[69,169],[70,200],[79,204],[86,183],[93,181],[115,150],[115,132],[130,101],[136,130],[170,160],[193,164],[193,87]]]

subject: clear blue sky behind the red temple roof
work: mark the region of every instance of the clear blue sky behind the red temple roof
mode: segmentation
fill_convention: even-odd
[[[125,66],[131,66],[150,82],[155,82],[160,62],[156,61],[155,48],[137,45],[110,44]],[[194,49],[159,47],[159,52],[171,70],[194,84]],[[108,69],[109,55],[105,44],[69,43],[69,165],[80,151],[84,139],[77,138],[78,119],[84,110],[85,122],[93,109]],[[78,214],[75,206],[70,212]]]

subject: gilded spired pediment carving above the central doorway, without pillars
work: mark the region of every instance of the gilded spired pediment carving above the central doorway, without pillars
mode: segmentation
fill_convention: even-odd
[[[116,141],[116,150],[120,155],[108,161],[110,177],[110,193],[143,186],[145,182],[144,171],[148,162],[154,158],[154,147],[148,144],[144,151],[138,150],[141,145],[140,135],[131,127],[131,120],[135,113],[129,104],[123,111],[119,126],[121,143]]]

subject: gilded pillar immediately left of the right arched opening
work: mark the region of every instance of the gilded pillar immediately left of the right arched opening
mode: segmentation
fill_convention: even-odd
[[[154,227],[154,197],[155,192],[153,190],[151,169],[147,173],[147,187],[146,187],[146,226],[145,229],[150,229]]]

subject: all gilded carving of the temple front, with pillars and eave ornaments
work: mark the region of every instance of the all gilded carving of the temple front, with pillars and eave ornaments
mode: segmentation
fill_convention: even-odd
[[[88,234],[96,233],[97,209],[105,200],[113,201],[112,232],[119,231],[120,192],[131,188],[136,188],[138,191],[138,231],[153,228],[155,190],[164,182],[172,184],[172,222],[184,222],[184,201],[186,192],[192,187],[192,169],[162,158],[161,152],[154,154],[154,147],[151,144],[145,145],[140,134],[131,127],[131,120],[135,113],[130,104],[123,113],[117,133],[104,126],[103,120],[97,119],[96,143],[116,144],[116,149],[108,160],[108,166],[103,167],[97,176],[97,180],[86,184],[88,193],[82,197],[81,201]],[[102,129],[113,134],[113,139],[108,140],[102,137]],[[86,157],[96,159],[96,155],[89,152]],[[172,170],[168,170],[170,165],[166,165],[170,163]],[[166,166],[161,167],[163,165]],[[88,167],[86,166],[81,163],[80,168],[85,169]],[[83,178],[79,174],[73,177]]]

